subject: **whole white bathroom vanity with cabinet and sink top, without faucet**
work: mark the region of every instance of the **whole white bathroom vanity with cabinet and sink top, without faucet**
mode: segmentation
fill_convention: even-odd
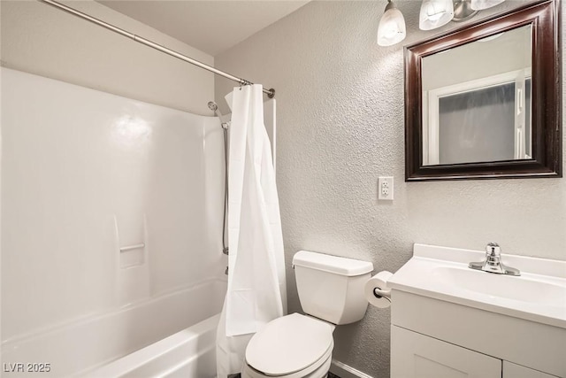
[[[391,377],[566,377],[566,261],[415,244],[392,289]]]

